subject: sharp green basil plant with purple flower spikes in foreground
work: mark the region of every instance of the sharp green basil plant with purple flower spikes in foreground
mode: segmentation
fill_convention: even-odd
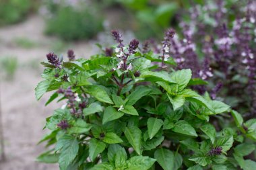
[[[173,34],[166,34],[163,53]],[[69,50],[68,62],[53,53],[42,62],[36,98],[55,91],[46,105],[67,104],[46,118],[51,133],[40,142],[49,151],[38,161],[58,162],[61,170],[254,169],[245,156],[255,150],[256,119],[244,122],[225,103],[190,89],[204,81],[190,69],[174,71],[173,58],[113,36],[115,52],[75,60]],[[219,119],[226,127],[212,123]]]

